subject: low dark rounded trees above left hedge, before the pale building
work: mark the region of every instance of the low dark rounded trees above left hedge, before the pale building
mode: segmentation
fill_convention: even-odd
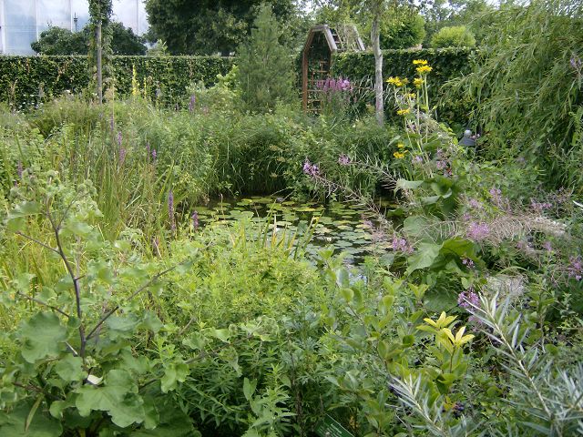
[[[145,55],[144,38],[122,23],[111,23],[111,51],[114,55]],[[71,32],[62,27],[51,27],[40,34],[38,41],[30,46],[41,55],[87,55],[91,40],[90,26],[80,32]]]

